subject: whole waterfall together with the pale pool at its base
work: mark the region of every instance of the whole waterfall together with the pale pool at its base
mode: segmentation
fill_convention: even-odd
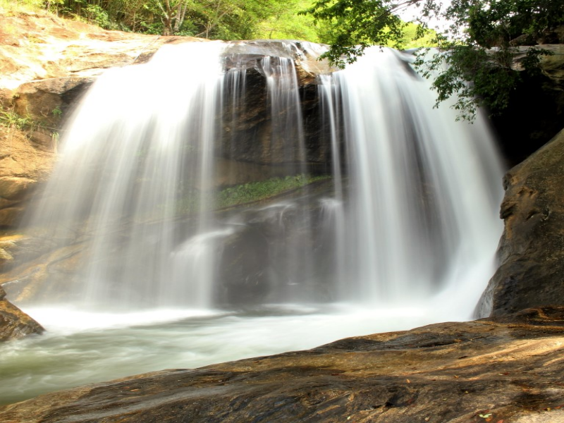
[[[471,319],[501,234],[482,118],[434,109],[389,49],[310,81],[312,114],[290,59],[312,48],[264,45],[166,46],[94,83],[25,223],[73,266],[6,286],[47,332],[0,347],[1,403]],[[220,202],[307,175],[323,178]]]

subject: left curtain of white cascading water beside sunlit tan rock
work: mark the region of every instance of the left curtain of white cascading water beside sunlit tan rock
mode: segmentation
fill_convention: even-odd
[[[86,239],[88,257],[76,271],[81,282],[73,302],[121,309],[212,306],[209,250],[216,237],[202,233],[212,230],[212,199],[205,194],[214,174],[224,46],[178,47],[97,80],[73,116],[61,162],[34,207],[30,221],[43,236],[67,244]],[[200,67],[193,66],[195,56]],[[196,190],[203,194],[190,203]],[[180,207],[192,207],[199,217],[181,243],[171,223]],[[188,241],[191,236],[197,239]],[[192,269],[198,271],[183,274],[188,264],[178,264],[180,256],[197,262]],[[192,288],[183,286],[186,278]]]

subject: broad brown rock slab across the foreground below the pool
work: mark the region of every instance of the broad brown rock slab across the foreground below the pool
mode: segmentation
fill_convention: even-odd
[[[564,307],[527,309],[49,393],[0,421],[563,422],[563,353]]]

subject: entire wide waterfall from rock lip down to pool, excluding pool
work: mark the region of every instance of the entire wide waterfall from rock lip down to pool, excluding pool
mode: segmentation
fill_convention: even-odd
[[[410,56],[390,49],[319,75],[306,118],[293,58],[311,54],[187,43],[98,78],[26,220],[51,245],[80,246],[67,302],[439,301],[470,317],[501,232],[501,166],[484,122],[433,109]],[[274,176],[325,179],[268,202],[220,201]],[[32,301],[49,302],[56,283],[47,276]]]

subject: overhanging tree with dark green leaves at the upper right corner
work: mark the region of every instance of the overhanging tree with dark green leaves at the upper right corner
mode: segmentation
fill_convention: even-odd
[[[450,22],[436,37],[441,51],[430,56],[421,51],[416,67],[427,78],[433,76],[437,105],[455,96],[459,118],[469,120],[478,106],[495,114],[508,105],[521,78],[512,69],[517,44],[534,45],[564,24],[564,3],[555,0],[453,0],[446,8],[435,0],[319,0],[305,13],[333,25],[326,57],[343,66],[370,44],[401,47],[405,24],[398,13],[410,6],[419,8],[419,35],[431,18]],[[539,72],[543,54],[542,49],[528,50],[522,63],[526,73]]]

